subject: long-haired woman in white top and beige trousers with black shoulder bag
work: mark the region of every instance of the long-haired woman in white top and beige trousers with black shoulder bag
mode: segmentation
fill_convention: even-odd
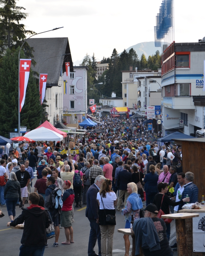
[[[99,204],[99,225],[101,232],[101,254],[112,255],[112,244],[113,244],[113,235],[115,223],[106,222],[106,215],[115,216],[115,208],[117,205],[117,196],[111,190],[112,182],[109,179],[105,179],[102,182],[100,191],[97,193],[97,202]],[[108,243],[107,243],[108,239]]]

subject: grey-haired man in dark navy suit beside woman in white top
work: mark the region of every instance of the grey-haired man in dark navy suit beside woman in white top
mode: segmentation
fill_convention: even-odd
[[[102,182],[105,177],[102,175],[97,176],[93,185],[91,185],[87,191],[87,208],[85,216],[90,221],[91,231],[88,242],[88,256],[97,255],[94,251],[96,241],[98,242],[98,255],[101,256],[101,234],[99,226],[99,205],[97,203],[97,193],[100,190]]]

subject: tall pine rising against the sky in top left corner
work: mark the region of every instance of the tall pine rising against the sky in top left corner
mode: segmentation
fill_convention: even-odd
[[[6,49],[11,49],[13,53],[18,46],[22,45],[26,34],[35,34],[20,23],[28,16],[28,13],[22,12],[22,10],[26,9],[17,6],[16,0],[0,0],[0,56],[5,54]],[[24,44],[23,50],[27,58],[33,57],[32,48],[27,42]]]

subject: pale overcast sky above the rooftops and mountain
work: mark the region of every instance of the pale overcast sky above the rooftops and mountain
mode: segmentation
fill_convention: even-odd
[[[161,0],[19,0],[29,13],[24,21],[36,37],[68,37],[72,60],[86,53],[102,59],[139,42],[154,41]],[[205,36],[204,0],[174,0],[175,41],[198,42]],[[156,48],[157,49],[157,48]]]

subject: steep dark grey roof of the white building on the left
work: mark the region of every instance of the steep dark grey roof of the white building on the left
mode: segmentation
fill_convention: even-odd
[[[41,74],[48,74],[46,87],[58,85],[62,66],[63,72],[65,72],[65,65],[63,65],[64,62],[70,62],[70,71],[73,72],[71,54],[59,56],[70,53],[70,46],[67,37],[30,38],[27,42],[30,47],[33,47],[33,59],[37,62],[35,66],[32,66],[32,69],[38,73],[40,69]],[[51,59],[46,60],[48,58]]]

